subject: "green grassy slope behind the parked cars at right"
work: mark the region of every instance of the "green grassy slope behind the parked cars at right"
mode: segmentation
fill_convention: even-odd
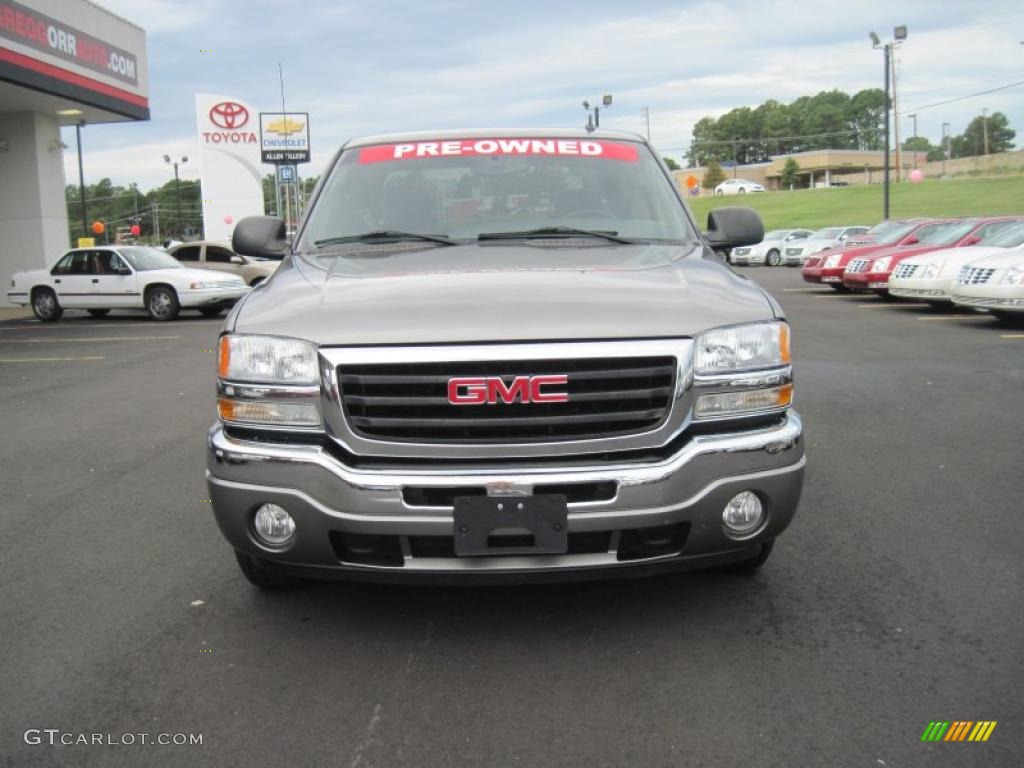
[[[815,229],[839,224],[866,224],[882,220],[882,185],[841,186],[702,197],[689,200],[701,226],[713,208],[744,205],[754,208],[766,229],[804,226]],[[1024,176],[928,179],[890,186],[891,218],[912,216],[1024,215]]]

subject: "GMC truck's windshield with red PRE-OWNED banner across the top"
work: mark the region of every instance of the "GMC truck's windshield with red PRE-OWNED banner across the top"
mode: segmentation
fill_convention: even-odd
[[[298,248],[309,252],[318,241],[368,232],[475,241],[551,227],[629,240],[694,239],[672,182],[642,144],[497,138],[345,152]]]

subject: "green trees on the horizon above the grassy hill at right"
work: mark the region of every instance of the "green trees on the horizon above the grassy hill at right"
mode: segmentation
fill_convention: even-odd
[[[801,96],[790,103],[768,99],[756,108],[738,106],[719,118],[705,117],[693,126],[687,160],[690,166],[711,161],[731,165],[766,163],[774,155],[812,150],[881,151],[885,145],[885,93],[866,88],[852,96],[841,90]],[[971,121],[963,134],[947,138],[951,157],[988,154],[1013,148],[1015,131],[1002,113]],[[910,136],[904,150],[929,153],[939,160],[945,145],[932,144],[924,136]],[[934,156],[934,157],[933,157]]]

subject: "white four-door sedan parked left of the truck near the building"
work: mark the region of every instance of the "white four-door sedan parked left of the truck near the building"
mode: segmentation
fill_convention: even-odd
[[[15,272],[7,298],[31,305],[44,323],[65,309],[86,309],[102,316],[111,309],[145,309],[169,321],[181,309],[215,316],[246,294],[242,278],[211,274],[181,266],[172,256],[146,246],[76,248],[49,269]]]

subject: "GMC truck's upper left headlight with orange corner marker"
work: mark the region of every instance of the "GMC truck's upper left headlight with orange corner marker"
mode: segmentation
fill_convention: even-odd
[[[217,372],[221,379],[261,384],[316,384],[316,347],[275,336],[220,337]]]

